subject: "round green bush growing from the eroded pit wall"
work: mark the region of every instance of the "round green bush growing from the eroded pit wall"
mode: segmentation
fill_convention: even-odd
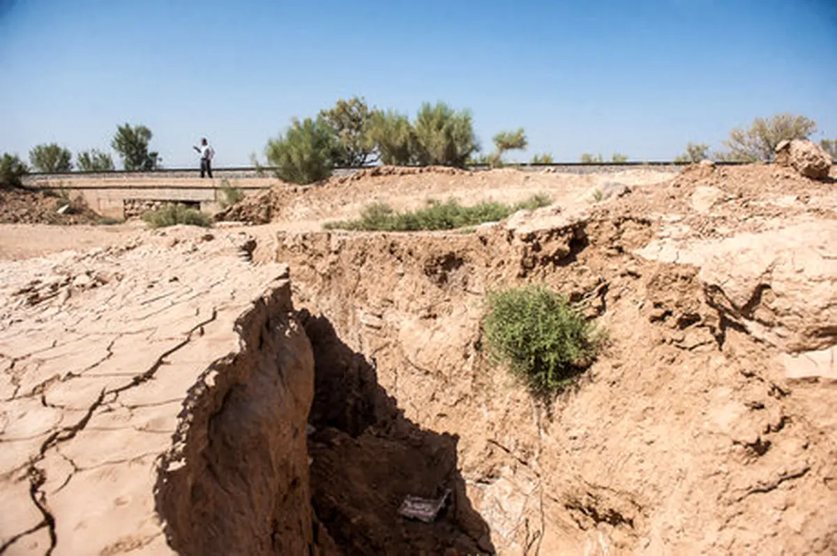
[[[528,285],[488,295],[485,340],[533,393],[552,395],[593,360],[602,334],[558,293]]]

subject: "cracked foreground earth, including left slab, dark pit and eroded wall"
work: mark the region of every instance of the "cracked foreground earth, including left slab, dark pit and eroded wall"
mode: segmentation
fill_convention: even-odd
[[[834,184],[576,193],[474,233],[4,262],[0,553],[837,553]],[[481,345],[485,293],[521,283],[608,331],[550,406]]]

